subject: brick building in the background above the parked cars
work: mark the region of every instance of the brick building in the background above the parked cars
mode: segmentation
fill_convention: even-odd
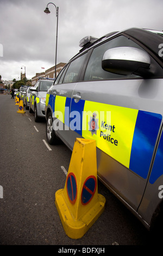
[[[64,66],[66,65],[66,63],[59,63],[56,66],[56,75],[59,74],[60,70],[62,68],[64,68]],[[35,83],[38,81],[38,78],[42,76],[42,77],[48,77],[48,78],[55,78],[55,66],[52,66],[52,68],[47,69],[45,72],[41,72],[41,73],[36,73],[36,75],[34,77],[32,77],[32,86],[35,85]]]

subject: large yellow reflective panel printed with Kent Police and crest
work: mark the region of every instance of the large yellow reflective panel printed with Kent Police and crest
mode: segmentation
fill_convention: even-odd
[[[89,125],[86,127],[92,113],[96,114],[99,126],[96,132],[92,132]],[[85,101],[82,136],[96,139],[99,149],[129,167],[137,113],[137,109]]]

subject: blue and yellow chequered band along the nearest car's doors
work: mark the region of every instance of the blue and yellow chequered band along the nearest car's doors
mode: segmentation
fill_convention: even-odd
[[[51,95],[49,103],[52,104],[50,99]],[[52,105],[54,111],[61,111],[60,121],[70,127],[74,119],[71,114],[78,111],[80,122],[74,131],[84,138],[96,139],[97,148],[142,178],[147,178],[162,115],[85,100],[76,103],[74,99],[63,96],[56,96]],[[69,115],[67,107],[70,106]],[[96,133],[92,133],[88,125],[93,112],[97,114],[99,127]],[[102,116],[99,116],[100,112]]]

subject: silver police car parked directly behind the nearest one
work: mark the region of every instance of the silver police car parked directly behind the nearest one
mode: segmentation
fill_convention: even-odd
[[[34,87],[30,87],[29,112],[34,112],[35,122],[45,118],[45,101],[47,90],[52,86],[53,78],[39,77]]]

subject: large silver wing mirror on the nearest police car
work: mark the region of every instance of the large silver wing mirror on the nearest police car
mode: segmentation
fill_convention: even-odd
[[[145,77],[151,65],[147,52],[133,47],[117,47],[107,50],[102,58],[102,68],[118,75]]]

